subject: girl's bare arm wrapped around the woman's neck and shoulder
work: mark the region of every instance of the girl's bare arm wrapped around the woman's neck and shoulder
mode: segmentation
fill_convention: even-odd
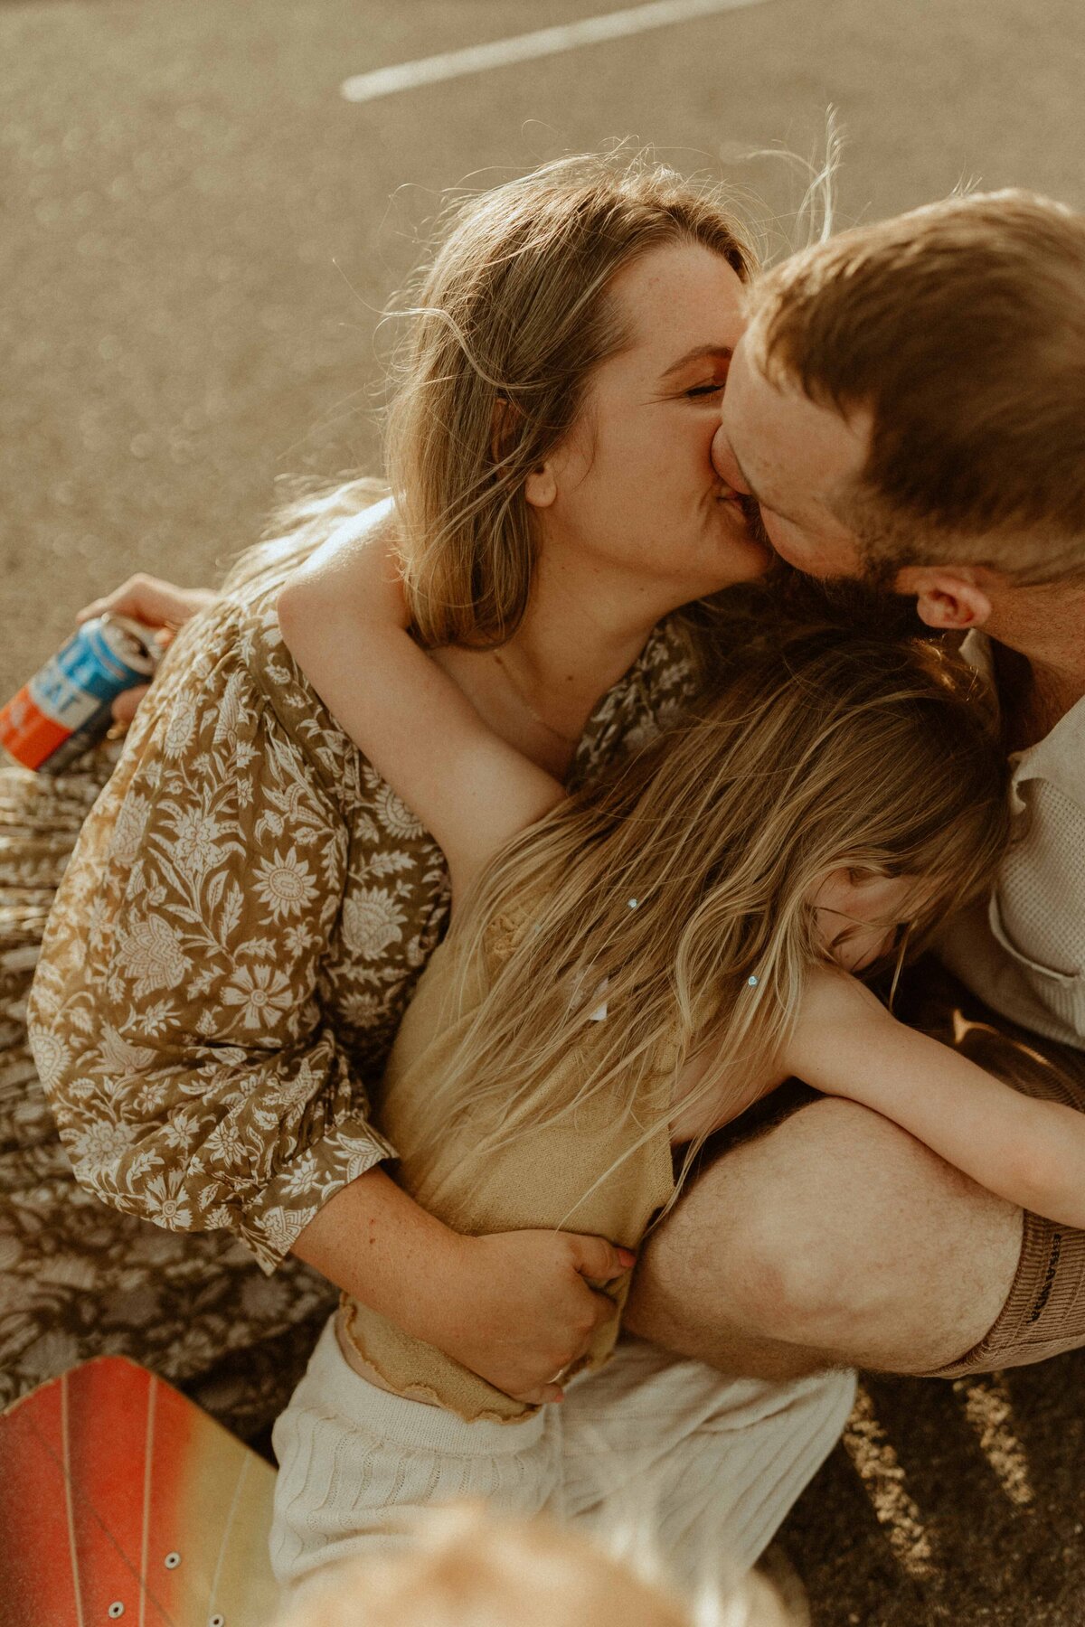
[[[392,527],[351,519],[296,571],[278,620],[314,690],[442,849],[457,892],[561,799],[407,631]]]

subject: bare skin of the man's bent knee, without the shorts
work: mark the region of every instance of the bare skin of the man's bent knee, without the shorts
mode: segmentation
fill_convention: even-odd
[[[818,1098],[693,1183],[641,1251],[625,1323],[729,1373],[924,1373],[987,1333],[1020,1243],[1020,1209]]]

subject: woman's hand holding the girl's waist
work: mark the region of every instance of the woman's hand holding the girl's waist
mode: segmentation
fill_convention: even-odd
[[[459,1237],[428,1339],[517,1401],[560,1401],[561,1375],[613,1315],[589,1284],[613,1282],[634,1259],[573,1232]]]

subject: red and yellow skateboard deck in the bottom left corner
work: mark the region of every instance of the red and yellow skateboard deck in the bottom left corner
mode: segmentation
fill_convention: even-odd
[[[275,1471],[124,1357],[0,1414],[0,1627],[270,1627]]]

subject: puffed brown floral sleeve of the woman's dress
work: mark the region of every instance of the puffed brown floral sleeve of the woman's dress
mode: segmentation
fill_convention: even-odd
[[[31,992],[78,1180],[272,1271],[392,1149],[322,1005],[348,831],[320,719],[241,612],[181,635],[86,820]],[[293,706],[293,713],[291,713]]]

